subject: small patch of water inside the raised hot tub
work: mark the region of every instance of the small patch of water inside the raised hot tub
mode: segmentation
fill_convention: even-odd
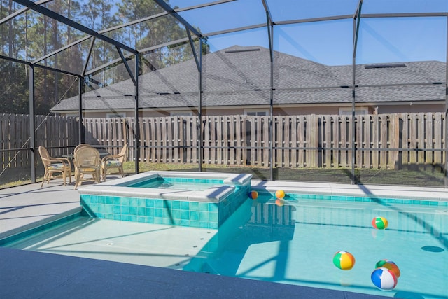
[[[146,181],[130,184],[128,187],[137,188],[158,188],[174,190],[207,190],[213,186],[222,186],[223,180],[218,179],[185,179],[158,176]]]

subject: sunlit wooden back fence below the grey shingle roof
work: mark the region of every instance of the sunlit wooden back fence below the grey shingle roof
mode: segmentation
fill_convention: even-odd
[[[274,116],[276,167],[351,167],[397,169],[444,163],[444,113],[393,113],[356,116]],[[127,141],[135,146],[134,118],[84,118],[86,141],[111,153]],[[194,116],[140,118],[140,159],[198,163],[201,127],[203,163],[269,166],[268,116]],[[130,151],[130,160],[134,152]]]

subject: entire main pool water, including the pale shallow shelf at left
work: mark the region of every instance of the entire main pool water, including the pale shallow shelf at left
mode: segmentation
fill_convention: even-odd
[[[388,220],[385,230],[372,218]],[[246,200],[219,230],[80,217],[7,246],[398,298],[448,298],[448,207],[381,200]],[[351,270],[332,263],[356,258]],[[370,279],[398,265],[392,291]]]

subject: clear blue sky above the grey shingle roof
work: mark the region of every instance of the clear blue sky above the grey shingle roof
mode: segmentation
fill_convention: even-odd
[[[188,7],[204,0],[171,0]],[[353,15],[358,0],[267,0],[274,22],[332,15]],[[364,0],[367,13],[448,12],[447,0]],[[261,0],[238,0],[180,13],[202,32],[219,32],[266,22]],[[268,48],[267,29],[211,36],[211,50],[230,46]],[[356,63],[447,60],[447,18],[361,18]],[[327,65],[351,64],[353,19],[274,27],[274,50]]]

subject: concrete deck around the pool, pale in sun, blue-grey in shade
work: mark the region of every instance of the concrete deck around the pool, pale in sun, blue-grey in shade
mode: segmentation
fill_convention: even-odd
[[[109,179],[109,177],[108,177]],[[111,177],[112,179],[112,177]],[[87,186],[87,185],[85,185]],[[256,188],[448,200],[443,188],[253,181]],[[302,191],[300,191],[302,190]],[[357,194],[357,195],[356,195]],[[348,195],[348,194],[347,194]],[[0,239],[80,209],[78,190],[53,180],[0,190]],[[2,298],[383,298],[0,247]]]

